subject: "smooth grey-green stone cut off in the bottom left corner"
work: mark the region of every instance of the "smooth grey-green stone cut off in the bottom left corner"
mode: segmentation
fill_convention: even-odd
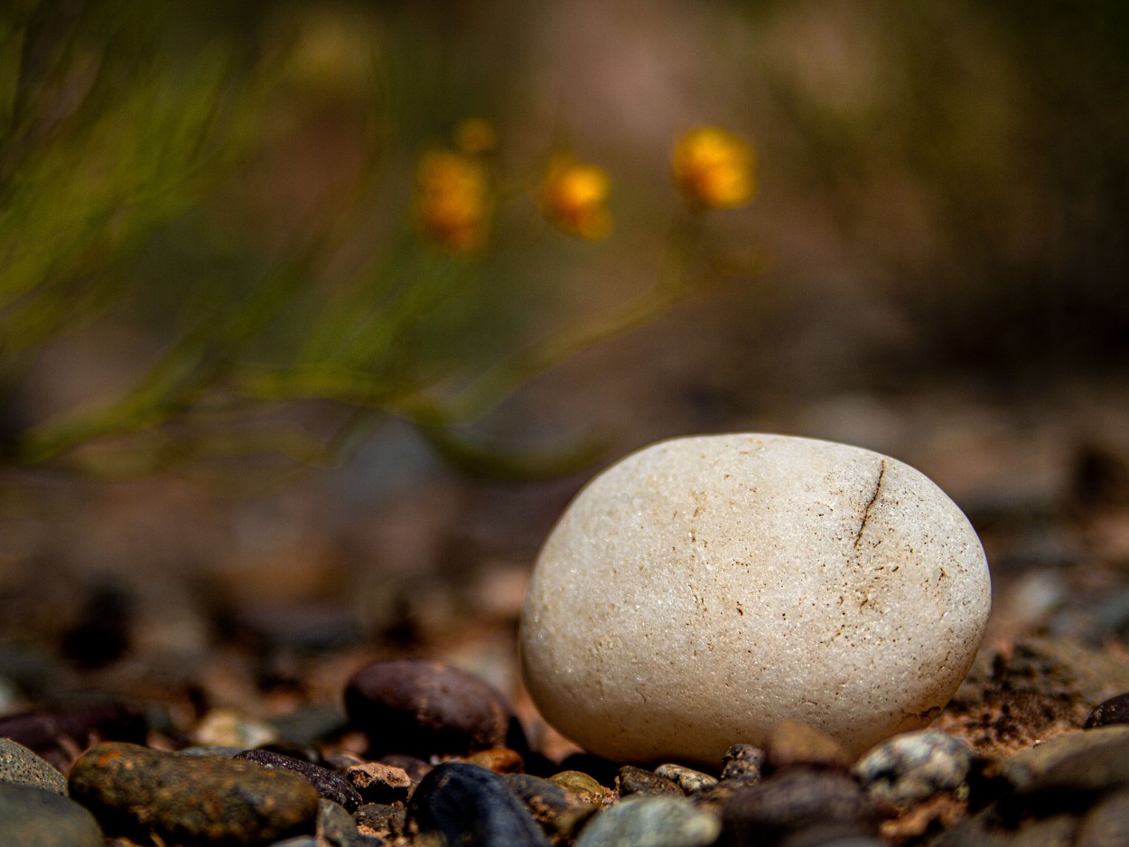
[[[72,800],[29,785],[0,783],[0,844],[103,847],[94,815]]]

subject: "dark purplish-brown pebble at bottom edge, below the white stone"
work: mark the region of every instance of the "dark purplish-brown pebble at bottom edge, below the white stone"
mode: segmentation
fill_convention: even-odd
[[[726,847],[774,845],[804,830],[815,830],[828,840],[878,833],[877,809],[854,779],[807,768],[791,768],[738,788],[723,806],[721,820],[719,844]]]

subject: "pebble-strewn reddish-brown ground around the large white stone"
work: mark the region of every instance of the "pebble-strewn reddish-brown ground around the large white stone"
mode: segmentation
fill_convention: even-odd
[[[980,533],[995,606],[929,731],[851,760],[781,716],[704,772],[588,756],[523,692],[528,568],[583,477],[458,480],[391,428],[237,503],[6,478],[0,840],[1129,844],[1129,709],[1106,702],[1129,692],[1129,402],[1052,400],[965,385],[725,421],[921,469]]]

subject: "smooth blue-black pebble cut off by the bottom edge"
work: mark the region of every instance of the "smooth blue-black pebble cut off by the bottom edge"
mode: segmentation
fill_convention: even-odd
[[[548,847],[549,841],[506,781],[476,765],[439,765],[408,805],[408,821],[425,837],[464,847]]]

